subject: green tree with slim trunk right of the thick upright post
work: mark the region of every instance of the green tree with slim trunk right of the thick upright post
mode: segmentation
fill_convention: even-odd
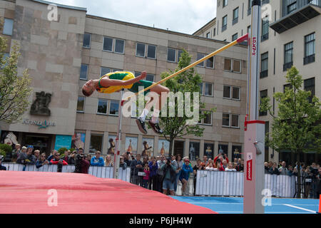
[[[320,152],[321,145],[321,111],[319,98],[311,96],[310,91],[302,90],[302,76],[297,68],[292,66],[287,71],[287,83],[284,93],[275,93],[278,104],[277,115],[272,112],[269,98],[263,98],[260,110],[272,115],[272,133],[267,138],[267,145],[280,152],[290,150],[297,160],[297,197],[301,194],[300,156],[303,152],[315,150]]]

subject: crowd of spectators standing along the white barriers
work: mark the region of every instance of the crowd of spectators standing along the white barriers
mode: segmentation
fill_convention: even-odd
[[[143,160],[142,160],[143,158]],[[34,150],[32,145],[23,146],[16,144],[11,155],[6,156],[5,162],[16,162],[22,165],[36,165],[40,168],[43,165],[57,165],[57,171],[61,172],[63,165],[75,165],[75,171],[79,173],[88,173],[90,166],[98,167],[113,167],[113,159],[111,155],[106,155],[106,159],[101,156],[100,151],[96,151],[95,155],[84,155],[83,149],[65,150],[60,154],[57,150],[52,150],[51,154],[46,157],[46,154],[39,150]],[[124,152],[120,157],[119,166],[126,170],[131,168],[131,182],[135,185],[148,188],[158,192],[163,192],[166,195],[175,195],[178,184],[182,185],[182,195],[189,195],[188,180],[193,174],[194,191],[196,183],[196,175],[198,170],[208,171],[225,171],[225,172],[243,172],[244,160],[235,158],[233,161],[228,160],[227,155],[220,153],[213,159],[207,156],[203,160],[196,160],[196,165],[192,164],[188,157],[182,155],[173,155],[165,158],[164,155],[141,157],[141,154],[136,154],[136,157],[131,152]],[[297,165],[292,167],[286,164],[285,161],[264,163],[265,174],[270,175],[288,175],[297,176]],[[318,198],[320,195],[320,175],[321,168],[315,162],[312,165],[301,164],[301,177],[304,182],[304,196],[306,198]],[[5,170],[1,165],[0,170]],[[194,192],[195,194],[195,192]]]

